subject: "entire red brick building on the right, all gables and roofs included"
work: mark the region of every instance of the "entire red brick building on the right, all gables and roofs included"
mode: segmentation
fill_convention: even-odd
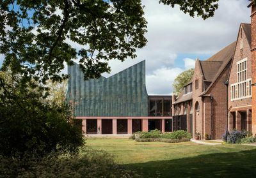
[[[173,103],[173,130],[186,122],[194,138],[196,131],[202,139],[220,139],[234,128],[256,133],[256,1],[248,7],[252,25],[241,24],[234,43],[196,60],[191,82]]]

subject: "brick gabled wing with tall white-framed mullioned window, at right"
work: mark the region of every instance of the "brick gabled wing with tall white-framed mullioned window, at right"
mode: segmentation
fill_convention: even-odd
[[[241,24],[228,79],[228,130],[252,131],[251,37],[251,24]]]

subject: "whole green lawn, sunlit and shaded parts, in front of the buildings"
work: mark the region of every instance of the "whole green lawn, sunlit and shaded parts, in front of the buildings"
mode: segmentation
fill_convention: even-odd
[[[88,139],[86,145],[113,154],[116,162],[145,177],[256,177],[256,147]]]

